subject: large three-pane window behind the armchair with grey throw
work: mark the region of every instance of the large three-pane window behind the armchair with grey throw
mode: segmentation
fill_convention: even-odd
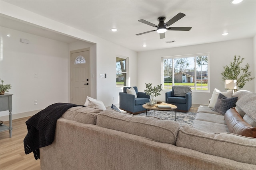
[[[162,58],[163,88],[175,85],[190,86],[198,91],[208,90],[208,57],[209,54],[200,54]]]

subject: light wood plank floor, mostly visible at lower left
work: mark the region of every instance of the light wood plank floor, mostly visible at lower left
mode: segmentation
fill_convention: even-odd
[[[196,113],[198,107],[191,107],[190,112]],[[40,170],[40,160],[34,154],[25,154],[23,140],[27,134],[26,121],[29,117],[12,121],[12,137],[9,131],[0,133],[0,170]],[[4,122],[8,125],[8,121]]]

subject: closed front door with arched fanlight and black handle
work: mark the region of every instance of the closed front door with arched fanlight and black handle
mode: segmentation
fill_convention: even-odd
[[[71,103],[84,105],[90,96],[90,51],[71,51]]]

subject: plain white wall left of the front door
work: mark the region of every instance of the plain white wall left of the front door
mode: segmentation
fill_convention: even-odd
[[[1,27],[1,46],[0,78],[12,86],[8,93],[13,94],[13,114],[68,102],[67,43]],[[8,111],[1,112],[4,115]]]

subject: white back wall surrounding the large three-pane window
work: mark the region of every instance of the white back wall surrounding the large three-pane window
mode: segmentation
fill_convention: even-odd
[[[160,49],[138,53],[138,89],[143,91],[145,83],[152,83],[153,86],[161,84],[161,57],[175,55],[189,55],[196,53],[210,53],[210,92],[194,92],[192,104],[208,104],[214,88],[225,91],[224,82],[221,80],[223,66],[233,61],[234,55],[240,55],[245,58],[242,64],[249,63],[252,77],[256,76],[254,71],[255,59],[253,57],[253,38],[238,39],[234,41],[224,41],[218,43],[208,43],[202,45],[192,45],[186,47],[176,47],[169,49]],[[244,90],[255,91],[255,82],[247,82]],[[165,101],[165,92],[162,91],[157,100]]]

